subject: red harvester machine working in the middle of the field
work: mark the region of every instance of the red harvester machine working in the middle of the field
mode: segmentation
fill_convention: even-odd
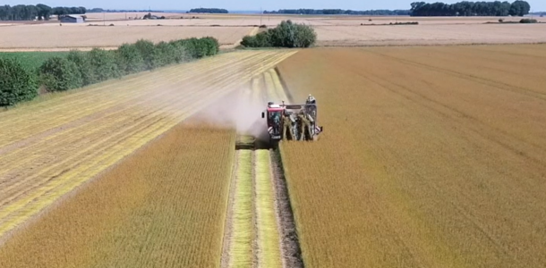
[[[322,132],[317,124],[317,103],[309,96],[304,105],[276,105],[268,103],[268,108],[261,113],[261,118],[268,121],[269,140],[316,140]]]

